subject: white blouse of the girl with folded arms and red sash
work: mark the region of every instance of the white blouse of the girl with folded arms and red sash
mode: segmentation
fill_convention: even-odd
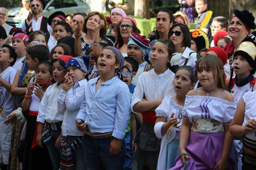
[[[134,112],[133,106],[141,102],[144,95],[148,101],[174,96],[174,77],[175,74],[170,69],[159,75],[156,75],[154,69],[143,72],[132,95],[131,111]]]

